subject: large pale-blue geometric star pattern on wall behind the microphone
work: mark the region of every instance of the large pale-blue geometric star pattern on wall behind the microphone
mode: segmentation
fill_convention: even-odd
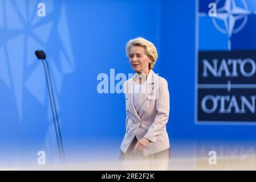
[[[46,80],[42,63],[34,54],[36,49],[47,53],[56,99],[64,76],[75,71],[65,3],[43,2],[46,16],[38,17],[39,1],[0,0],[0,81],[14,94],[21,122],[25,93],[46,105],[51,119]]]

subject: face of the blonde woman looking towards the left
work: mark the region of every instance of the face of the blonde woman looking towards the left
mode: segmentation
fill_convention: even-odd
[[[151,63],[151,58],[146,55],[145,48],[143,46],[133,46],[130,48],[129,53],[129,63],[133,71],[136,73],[145,73],[149,72],[148,64]]]

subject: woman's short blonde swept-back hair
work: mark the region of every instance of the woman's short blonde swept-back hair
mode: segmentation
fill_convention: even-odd
[[[129,57],[130,49],[133,46],[143,46],[145,48],[146,54],[152,58],[151,63],[149,63],[149,69],[153,69],[158,53],[155,45],[152,42],[149,42],[147,39],[144,38],[135,38],[129,40],[129,42],[126,44],[126,56]]]

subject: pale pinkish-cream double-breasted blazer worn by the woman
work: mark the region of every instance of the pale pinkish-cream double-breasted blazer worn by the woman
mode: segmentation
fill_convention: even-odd
[[[143,151],[144,155],[155,154],[170,147],[166,132],[169,119],[169,90],[167,81],[149,71],[146,84],[136,103],[133,103],[133,90],[136,76],[124,82],[126,132],[121,143],[121,151],[128,150],[134,137],[137,140],[145,137],[150,140]],[[137,110],[136,110],[136,109]]]

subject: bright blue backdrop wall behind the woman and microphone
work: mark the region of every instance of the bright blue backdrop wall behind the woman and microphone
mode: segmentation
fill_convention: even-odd
[[[0,11],[5,9],[7,1],[11,0],[0,1]],[[46,3],[46,17],[38,18],[37,3],[28,0],[12,1],[10,6],[14,6],[14,11],[9,12],[8,17],[7,11],[11,9],[0,12],[0,49],[5,50],[0,63],[5,61],[7,65],[7,71],[5,67],[0,68],[2,73],[4,70],[7,72],[7,77],[0,79],[0,165],[36,164],[39,150],[46,151],[48,163],[59,162],[43,67],[34,56],[38,48],[44,49],[49,57],[67,162],[117,160],[125,133],[125,100],[123,94],[97,93],[100,82],[97,75],[107,73],[109,76],[110,69],[115,69],[115,74],[125,73],[128,76],[132,73],[125,57],[125,44],[136,36],[151,40],[159,51],[154,71],[169,83],[170,118],[167,130],[174,157],[193,155],[191,152],[180,152],[180,146],[192,146],[193,151],[195,142],[256,139],[255,125],[194,123],[195,1],[40,2]],[[61,21],[63,6],[64,22]],[[34,36],[37,43],[30,48],[26,37],[34,30],[34,27],[27,26],[33,24],[32,20],[24,21],[21,30],[7,26],[7,22],[15,20],[10,18],[11,15],[21,16],[22,13],[17,12],[26,14],[29,9],[33,10],[27,16],[38,19],[34,27],[47,24],[47,21],[53,22],[51,28],[46,26],[38,30]],[[49,9],[51,11],[47,13]],[[245,30],[255,28],[255,19],[252,21]],[[43,39],[47,39],[45,43],[40,40],[40,33]],[[19,34],[25,36],[24,41],[15,39]],[[200,36],[200,46],[208,49],[209,45],[204,42],[208,35]],[[222,37],[225,38],[225,35],[216,36],[214,40],[220,46],[218,48],[225,49]],[[13,46],[6,46],[9,38],[15,40]],[[247,39],[255,43],[254,38]],[[245,37],[237,34],[234,39],[238,45]],[[254,43],[251,43],[252,48]],[[64,67],[63,57],[69,63]],[[35,70],[36,73],[32,74]],[[22,80],[16,82],[15,77],[22,77]],[[27,83],[30,79],[32,81]],[[20,92],[15,89],[15,84],[19,85]],[[26,84],[38,97],[26,89]],[[17,93],[20,94],[21,104],[17,104]]]

